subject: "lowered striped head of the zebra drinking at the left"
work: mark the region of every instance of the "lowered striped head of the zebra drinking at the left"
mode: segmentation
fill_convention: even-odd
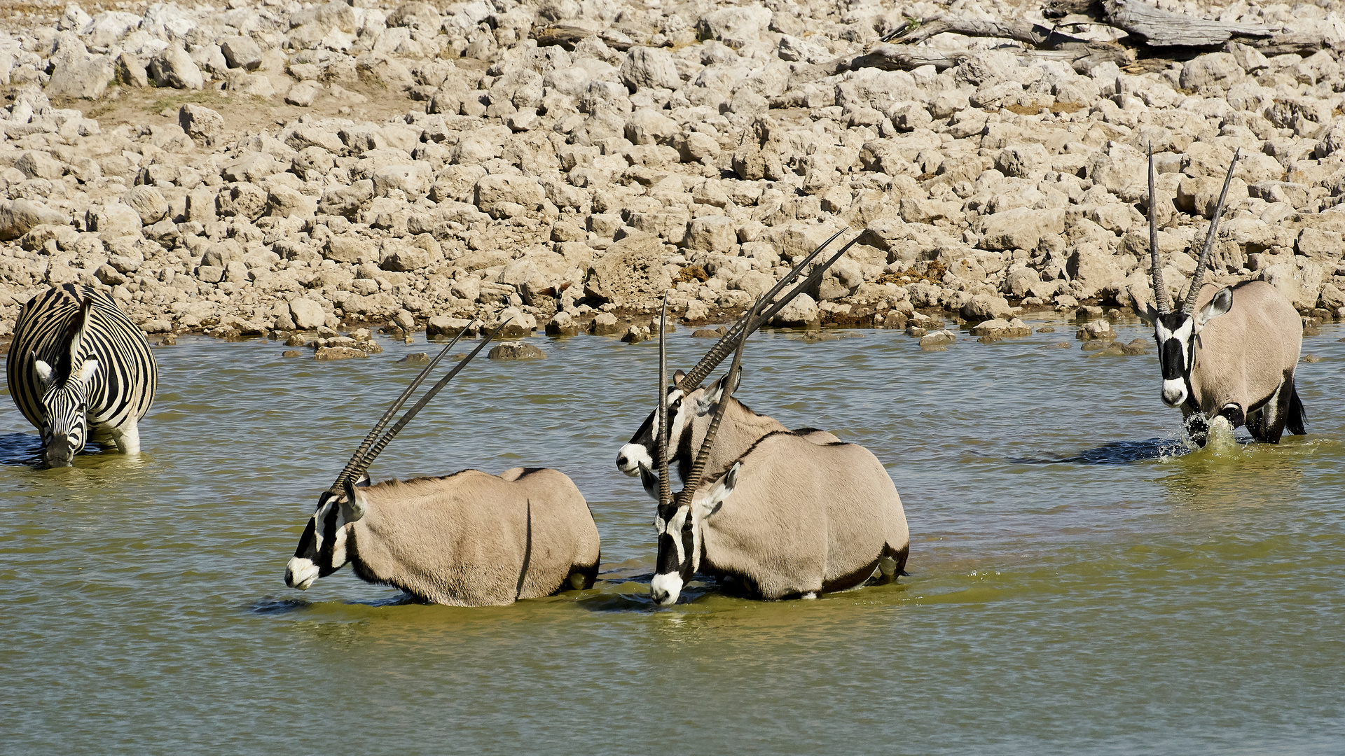
[[[98,361],[81,358],[93,316],[93,303],[86,301],[79,308],[78,319],[71,324],[69,348],[56,365],[47,365],[31,352],[32,370],[38,374],[42,387],[42,447],[44,467],[70,467],[74,456],[83,451],[89,440],[89,381],[98,373]]]

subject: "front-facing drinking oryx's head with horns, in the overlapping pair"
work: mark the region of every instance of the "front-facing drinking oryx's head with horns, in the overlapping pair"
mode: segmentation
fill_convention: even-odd
[[[763,296],[753,303],[752,308],[748,309],[748,317],[753,317],[756,312],[761,308],[761,303],[765,300]],[[654,580],[650,581],[650,597],[655,603],[668,607],[677,603],[678,596],[682,593],[682,587],[691,580],[695,570],[701,566],[701,522],[698,511],[703,507],[703,496],[695,496],[695,490],[701,484],[701,476],[705,474],[705,464],[710,459],[710,449],[714,448],[714,436],[720,429],[720,421],[724,420],[724,410],[729,405],[729,398],[733,395],[733,389],[737,386],[737,378],[741,371],[742,363],[742,347],[746,344],[748,332],[744,332],[737,342],[737,348],[733,352],[733,363],[729,367],[729,373],[720,381],[722,389],[717,391],[720,401],[716,404],[714,418],[710,421],[710,426],[705,433],[705,441],[701,444],[701,449],[695,455],[695,463],[691,465],[691,471],[686,476],[686,482],[682,487],[682,492],[677,499],[672,498],[668,484],[668,460],[666,455],[659,455],[659,507],[654,515],[654,530],[658,534],[658,561],[654,568]],[[666,359],[664,359],[664,343],[663,336],[659,342],[659,386],[663,386],[666,381]],[[663,406],[666,404],[666,395],[660,391],[660,416],[667,417],[670,413]],[[685,402],[691,404],[691,402]],[[659,436],[666,433],[666,428],[660,424],[658,428]],[[656,448],[664,449],[668,444],[656,444]],[[734,465],[734,471],[737,465]],[[644,479],[646,488],[652,486],[650,480],[652,478],[652,471],[647,467],[640,468],[640,476]],[[734,472],[734,475],[737,475]],[[724,478],[728,478],[726,475]],[[712,487],[709,495],[714,495],[720,491],[720,487]]]

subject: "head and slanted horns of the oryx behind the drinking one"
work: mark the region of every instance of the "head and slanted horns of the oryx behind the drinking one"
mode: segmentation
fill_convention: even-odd
[[[790,273],[787,273],[783,278],[780,278],[780,281],[775,287],[771,288],[771,291],[764,293],[760,297],[760,301],[764,303],[772,301],[772,297],[780,293],[784,289],[784,287],[790,284],[790,281],[792,281],[799,273],[802,273],[803,269],[808,264],[811,264],[816,256],[822,254],[822,250],[826,249],[839,235],[841,231],[837,231],[835,234],[831,235],[831,238],[829,238],[820,246],[818,246],[818,249],[812,250],[812,254],[806,257],[803,262],[795,265],[794,269],[790,270]],[[670,426],[668,439],[670,443],[672,444],[672,453],[674,453],[672,459],[678,459],[677,457],[678,444],[679,440],[683,437],[683,430],[687,428],[687,421],[690,420],[683,412],[683,408],[686,405],[683,400],[686,400],[687,397],[694,398],[695,391],[701,389],[701,382],[703,382],[710,375],[710,373],[713,373],[714,369],[718,367],[721,362],[724,362],[724,358],[729,356],[729,352],[733,351],[734,346],[738,343],[740,339],[752,335],[753,331],[756,331],[757,328],[761,327],[761,324],[773,317],[775,313],[779,312],[791,300],[794,300],[795,296],[802,293],[804,289],[816,285],[816,282],[822,280],[822,276],[823,273],[826,273],[827,268],[830,268],[831,264],[839,260],[841,256],[845,254],[846,250],[849,250],[850,246],[855,243],[855,241],[858,241],[858,237],[855,237],[853,241],[841,248],[841,250],[833,254],[830,258],[827,258],[826,262],[815,266],[812,272],[808,273],[807,278],[804,278],[802,282],[794,287],[787,295],[784,295],[779,300],[775,300],[773,304],[771,304],[771,307],[760,308],[760,312],[757,315],[753,315],[751,309],[746,313],[744,313],[742,317],[740,317],[737,323],[734,323],[728,330],[728,332],[724,334],[724,336],[721,336],[720,340],[714,343],[713,347],[710,347],[710,351],[701,358],[701,362],[698,362],[695,367],[691,369],[690,373],[682,373],[681,370],[677,371],[677,374],[674,375],[672,386],[667,386],[660,393],[660,397],[666,394],[664,398],[667,401],[668,426]],[[627,441],[621,447],[621,449],[616,453],[617,469],[633,478],[636,475],[640,475],[642,467],[650,469],[655,467],[654,456],[658,453],[658,451],[654,448],[654,426],[659,421],[658,414],[659,409],[654,409],[654,412],[651,412],[648,417],[644,418],[644,422],[635,432],[635,434],[631,436],[631,440]],[[683,464],[686,463],[686,460],[682,461]]]

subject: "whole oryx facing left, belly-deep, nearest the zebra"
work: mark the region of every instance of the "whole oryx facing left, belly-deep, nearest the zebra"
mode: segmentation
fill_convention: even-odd
[[[307,589],[346,562],[360,580],[401,588],[422,601],[460,607],[511,604],[593,585],[597,526],[578,488],[560,471],[515,467],[488,475],[464,469],[444,478],[369,484],[366,471],[374,457],[496,332],[499,328],[378,439],[457,339],[393,402],[336,482],[317,498],[317,511],[285,568],[285,585]]]

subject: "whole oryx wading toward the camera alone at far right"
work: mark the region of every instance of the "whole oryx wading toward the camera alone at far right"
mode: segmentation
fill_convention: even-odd
[[[1294,305],[1266,281],[1223,288],[1204,282],[1236,164],[1237,153],[1228,167],[1186,299],[1173,312],[1158,254],[1153,151],[1149,156],[1149,245],[1157,307],[1137,301],[1135,309],[1154,326],[1163,402],[1181,408],[1188,432],[1200,445],[1215,417],[1227,418],[1233,428],[1245,424],[1254,439],[1270,444],[1279,443],[1284,428],[1290,433],[1307,432],[1303,404],[1294,387],[1303,342]]]

